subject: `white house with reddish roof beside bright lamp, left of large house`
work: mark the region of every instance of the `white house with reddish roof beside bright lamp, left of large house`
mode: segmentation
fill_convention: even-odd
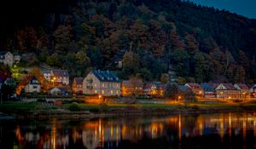
[[[50,80],[56,84],[69,84],[69,75],[67,70],[51,70]]]

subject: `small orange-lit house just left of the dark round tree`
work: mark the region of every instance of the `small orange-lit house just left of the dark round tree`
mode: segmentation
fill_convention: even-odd
[[[166,90],[166,83],[153,82],[146,83],[144,86],[144,94],[145,95],[154,95],[154,96],[162,96]]]

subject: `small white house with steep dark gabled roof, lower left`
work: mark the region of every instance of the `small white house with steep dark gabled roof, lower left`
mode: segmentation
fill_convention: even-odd
[[[28,78],[25,84],[25,93],[40,93],[41,83],[38,81],[37,77]]]

